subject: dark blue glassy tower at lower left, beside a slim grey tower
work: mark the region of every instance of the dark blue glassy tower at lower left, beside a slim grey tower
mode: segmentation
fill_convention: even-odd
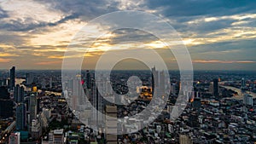
[[[26,130],[26,105],[19,103],[16,109],[16,130]]]

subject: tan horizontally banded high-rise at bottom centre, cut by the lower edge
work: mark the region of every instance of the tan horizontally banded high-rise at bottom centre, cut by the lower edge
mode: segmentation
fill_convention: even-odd
[[[117,143],[117,107],[116,106],[106,106],[106,141],[107,143]]]

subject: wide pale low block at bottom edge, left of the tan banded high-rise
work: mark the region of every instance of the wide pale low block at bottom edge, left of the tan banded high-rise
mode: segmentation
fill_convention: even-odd
[[[64,130],[54,130],[49,132],[49,144],[64,144]]]

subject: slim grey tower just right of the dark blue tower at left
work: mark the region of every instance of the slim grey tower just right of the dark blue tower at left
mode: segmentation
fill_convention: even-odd
[[[30,95],[30,123],[33,119],[37,118],[37,111],[38,111],[38,100],[37,100],[37,93],[33,92]]]

